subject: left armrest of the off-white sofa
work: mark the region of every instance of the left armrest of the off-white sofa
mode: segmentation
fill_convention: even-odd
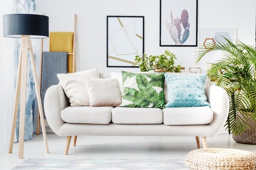
[[[61,111],[70,105],[61,85],[52,85],[44,96],[44,113],[52,131],[58,135],[61,125]]]

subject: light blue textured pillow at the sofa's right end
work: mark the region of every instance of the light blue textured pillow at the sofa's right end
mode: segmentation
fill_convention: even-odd
[[[204,93],[206,75],[165,74],[168,99],[166,108],[209,106]]]

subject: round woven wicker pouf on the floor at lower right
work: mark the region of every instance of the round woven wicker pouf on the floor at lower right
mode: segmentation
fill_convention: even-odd
[[[189,170],[256,170],[256,154],[239,149],[204,148],[185,157]]]

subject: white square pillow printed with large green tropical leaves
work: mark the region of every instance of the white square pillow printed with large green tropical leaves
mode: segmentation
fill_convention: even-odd
[[[165,108],[164,74],[122,71],[124,95],[120,107]]]

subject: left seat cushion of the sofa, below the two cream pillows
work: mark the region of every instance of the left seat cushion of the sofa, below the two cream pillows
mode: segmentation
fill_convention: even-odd
[[[67,123],[108,124],[113,107],[70,106],[61,111]]]

